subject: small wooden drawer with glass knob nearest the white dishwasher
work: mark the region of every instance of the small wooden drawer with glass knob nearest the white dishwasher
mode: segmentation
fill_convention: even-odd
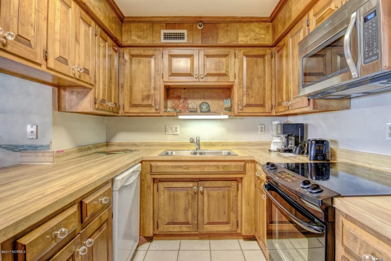
[[[82,223],[111,204],[111,183],[82,199]]]

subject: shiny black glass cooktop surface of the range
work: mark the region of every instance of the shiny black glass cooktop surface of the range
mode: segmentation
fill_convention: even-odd
[[[337,162],[276,163],[341,196],[391,195],[391,174]]]

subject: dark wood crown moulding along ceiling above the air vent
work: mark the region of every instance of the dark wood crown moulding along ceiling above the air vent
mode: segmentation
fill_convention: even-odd
[[[109,0],[108,0],[109,1]],[[286,1],[286,0],[282,0]],[[238,22],[271,22],[270,17],[257,16],[127,16],[124,23],[163,22],[163,23],[238,23]]]

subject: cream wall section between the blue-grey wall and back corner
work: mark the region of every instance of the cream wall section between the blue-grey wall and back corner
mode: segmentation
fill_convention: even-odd
[[[57,111],[56,89],[53,97],[53,150],[106,141],[105,117]]]

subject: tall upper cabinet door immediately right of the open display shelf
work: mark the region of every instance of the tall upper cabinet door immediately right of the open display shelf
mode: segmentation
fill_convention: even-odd
[[[271,112],[271,50],[241,50],[239,64],[238,114]]]

